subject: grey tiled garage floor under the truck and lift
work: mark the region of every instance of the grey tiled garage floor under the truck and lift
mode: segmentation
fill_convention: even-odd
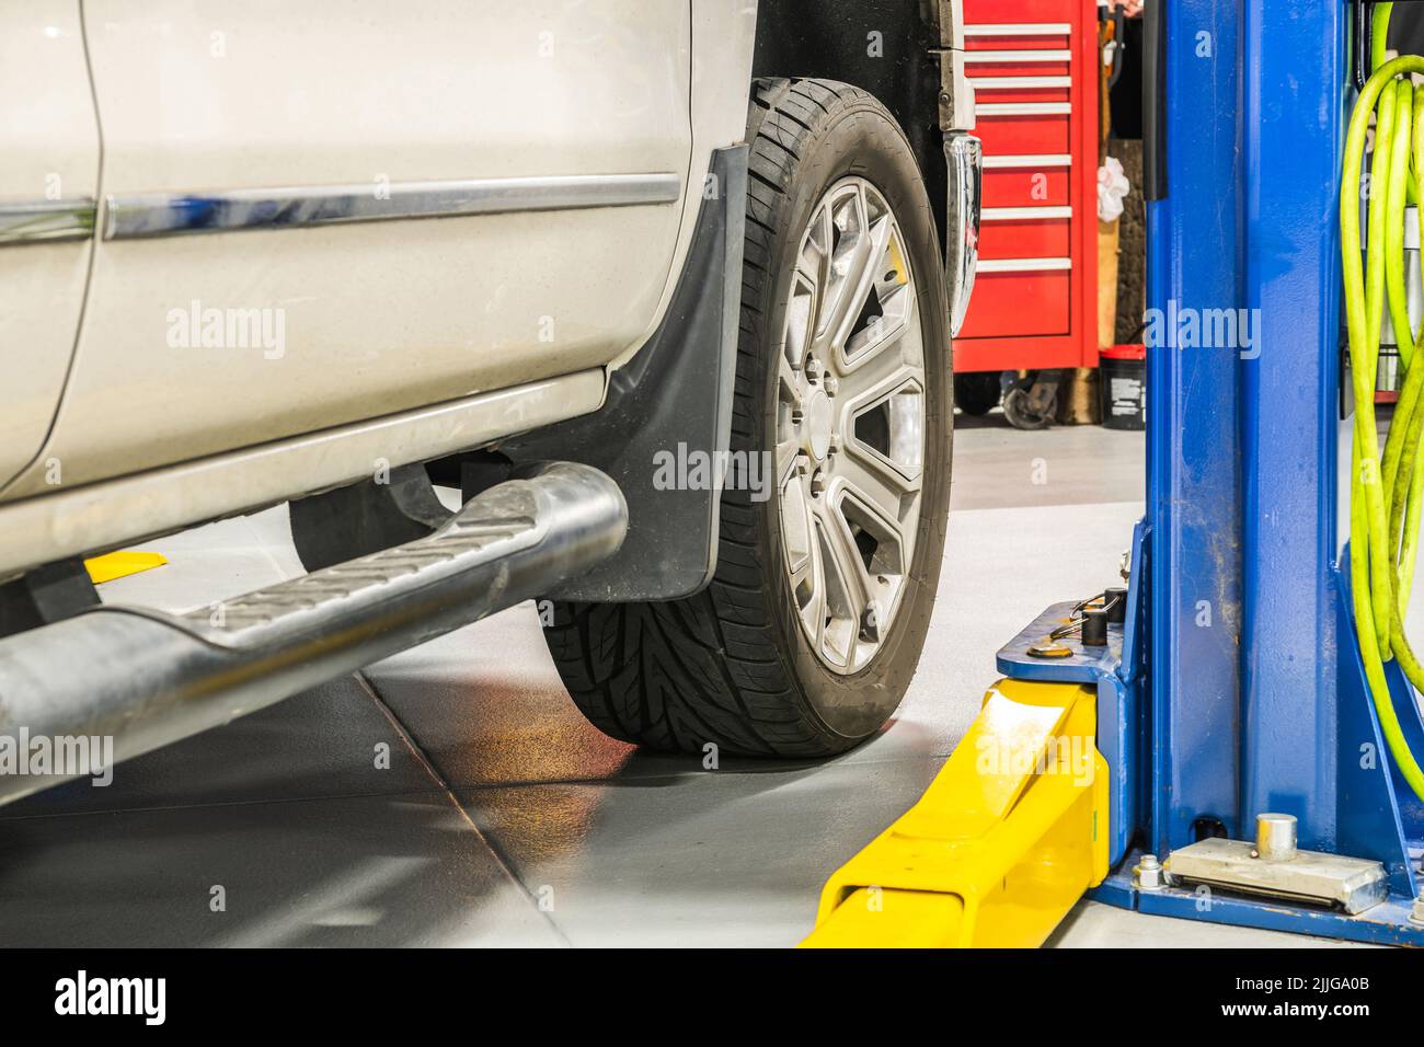
[[[894,722],[840,759],[703,771],[609,741],[521,605],[110,788],[0,809],[0,944],[790,946],[826,876],[928,785],[997,647],[1114,581],[1142,454],[1135,433],[963,422],[924,661]],[[282,510],[145,548],[169,566],[105,600],[188,608],[300,570]],[[1087,903],[1054,944],[1321,943]]]

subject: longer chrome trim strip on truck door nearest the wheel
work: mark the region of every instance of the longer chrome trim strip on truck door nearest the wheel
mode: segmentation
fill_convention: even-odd
[[[671,172],[152,192],[108,197],[104,239],[635,207],[681,197],[682,177]]]

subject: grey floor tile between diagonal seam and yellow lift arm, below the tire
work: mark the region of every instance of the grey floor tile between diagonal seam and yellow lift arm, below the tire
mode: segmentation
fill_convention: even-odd
[[[459,795],[575,946],[789,946],[826,877],[934,771],[721,769]]]

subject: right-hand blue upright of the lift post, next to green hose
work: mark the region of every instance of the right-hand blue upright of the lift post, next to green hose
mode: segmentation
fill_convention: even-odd
[[[1349,6],[1245,4],[1243,818],[1336,842],[1339,185]]]

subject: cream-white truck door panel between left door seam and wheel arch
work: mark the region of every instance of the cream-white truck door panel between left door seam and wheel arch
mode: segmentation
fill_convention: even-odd
[[[84,10],[105,195],[686,178],[685,1]],[[607,363],[652,325],[681,221],[679,201],[103,242],[47,454],[90,481]],[[281,350],[185,339],[194,302],[258,311]]]

